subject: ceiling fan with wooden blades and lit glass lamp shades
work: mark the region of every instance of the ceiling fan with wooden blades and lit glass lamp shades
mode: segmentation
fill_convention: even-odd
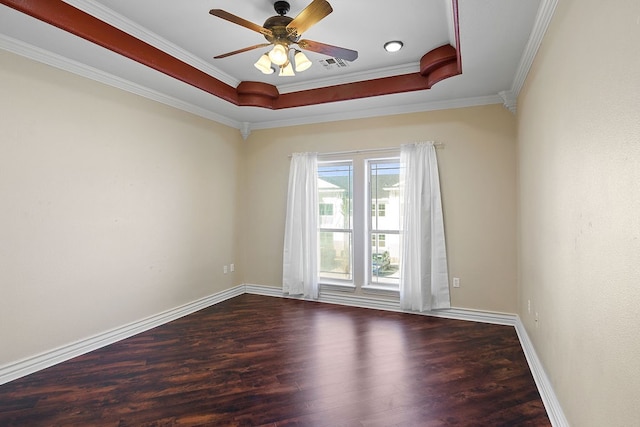
[[[333,12],[333,8],[326,0],[313,0],[295,18],[286,16],[290,9],[289,2],[276,1],[273,8],[278,15],[268,18],[262,26],[222,9],[211,9],[209,11],[211,15],[258,32],[269,42],[227,52],[215,56],[214,59],[226,58],[238,53],[273,45],[273,49],[268,54],[262,55],[258,62],[255,63],[256,68],[265,74],[271,74],[275,71],[272,64],[275,64],[280,68],[281,76],[291,76],[294,75],[292,61],[295,62],[296,71],[306,70],[311,66],[311,61],[300,50],[290,49],[290,45],[297,45],[301,50],[317,52],[346,61],[355,61],[358,58],[358,52],[355,50],[313,40],[300,39],[302,33]],[[292,51],[294,58],[290,59],[290,52]]]

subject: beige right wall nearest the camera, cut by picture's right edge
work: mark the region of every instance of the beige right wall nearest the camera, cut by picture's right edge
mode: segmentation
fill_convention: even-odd
[[[640,420],[639,41],[636,0],[560,0],[518,99],[519,312],[574,426]]]

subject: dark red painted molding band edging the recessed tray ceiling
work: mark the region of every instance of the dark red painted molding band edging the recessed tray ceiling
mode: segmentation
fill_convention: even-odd
[[[456,46],[444,45],[427,52],[420,72],[309,89],[280,95],[261,82],[241,82],[237,88],[169,55],[132,35],[85,13],[62,0],[0,0],[1,4],[119,53],[161,73],[239,106],[269,109],[294,108],[327,102],[430,89],[462,73],[458,0],[453,3]]]

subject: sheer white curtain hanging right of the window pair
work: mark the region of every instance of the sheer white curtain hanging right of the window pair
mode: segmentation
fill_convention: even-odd
[[[436,150],[432,142],[403,145],[400,307],[450,308],[449,274]]]

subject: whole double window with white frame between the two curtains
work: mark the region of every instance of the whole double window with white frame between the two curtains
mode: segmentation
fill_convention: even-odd
[[[320,283],[397,291],[400,159],[318,163]]]

